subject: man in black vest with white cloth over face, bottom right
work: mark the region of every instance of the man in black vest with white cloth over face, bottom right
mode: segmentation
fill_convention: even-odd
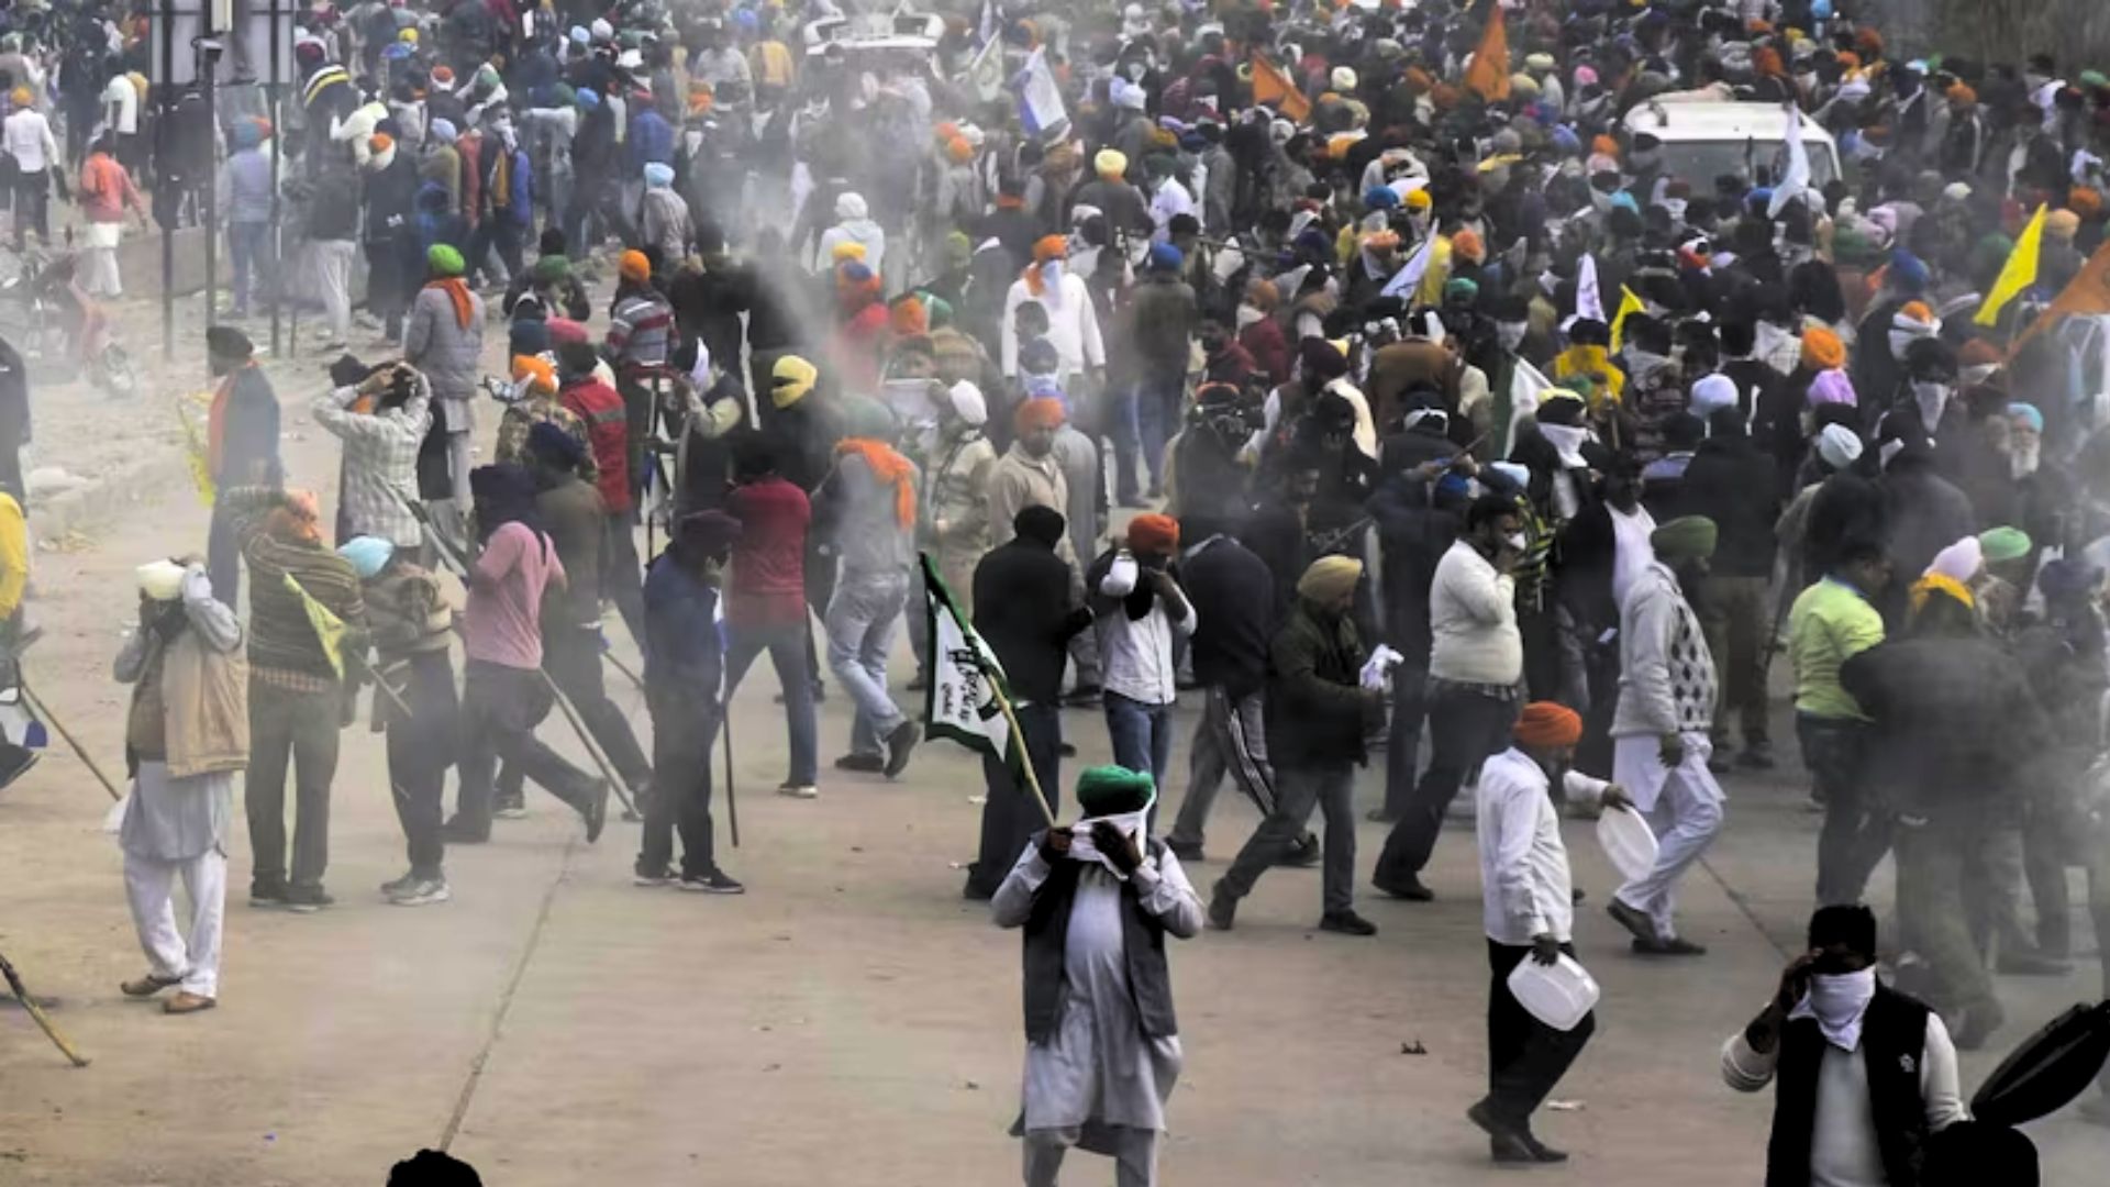
[[[1722,1079],[1779,1081],[1768,1183],[1918,1183],[1929,1134],[1967,1117],[1941,1016],[1876,980],[1865,906],[1810,915],[1766,1010],[1722,1043]]]

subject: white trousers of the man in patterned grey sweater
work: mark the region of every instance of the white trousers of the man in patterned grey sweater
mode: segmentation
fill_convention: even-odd
[[[1673,912],[1677,879],[1699,862],[1722,832],[1722,784],[1707,769],[1713,743],[1705,733],[1680,735],[1686,756],[1675,769],[1663,765],[1654,735],[1614,739],[1612,781],[1627,788],[1633,807],[1656,834],[1656,868],[1618,887],[1618,900],[1642,910],[1656,925],[1658,940],[1677,938]]]

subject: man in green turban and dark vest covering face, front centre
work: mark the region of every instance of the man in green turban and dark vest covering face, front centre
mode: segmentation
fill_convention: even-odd
[[[1072,1145],[1110,1155],[1118,1187],[1158,1181],[1182,1064],[1165,936],[1192,940],[1201,900],[1179,858],[1148,839],[1154,798],[1142,771],[1085,771],[1085,822],[1036,836],[990,902],[998,927],[1025,929],[1025,1086],[1011,1130],[1025,1138],[1025,1187],[1055,1187]]]

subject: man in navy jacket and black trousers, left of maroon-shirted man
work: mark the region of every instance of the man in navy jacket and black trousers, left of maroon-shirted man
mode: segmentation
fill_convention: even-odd
[[[741,522],[724,511],[698,511],[675,528],[673,545],[646,574],[646,705],[652,710],[652,767],[658,781],[646,805],[637,885],[679,885],[701,893],[743,893],[747,887],[717,868],[711,836],[711,743],[724,716],[720,701],[726,644],[717,625],[724,579]],[[673,834],[682,832],[682,877],[671,870]]]

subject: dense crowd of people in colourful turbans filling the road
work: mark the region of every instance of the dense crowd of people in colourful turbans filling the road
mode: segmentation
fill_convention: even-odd
[[[97,17],[0,42],[17,241],[46,230],[57,106],[63,161],[108,148],[80,169],[99,222],[146,207],[148,171],[184,220],[217,173],[234,317],[314,302],[350,342],[363,270],[392,355],[342,359],[312,401],[344,439],[325,532],[249,338],[213,332],[213,539],[141,570],[118,659],[152,959],[127,993],[215,1001],[236,769],[251,904],[331,902],[363,684],[409,849],[390,902],[447,900],[445,847],[519,815],[523,779],[589,841],[612,792],[635,805],[639,885],[738,893],[713,847],[724,703],[768,653],[779,792],[814,798],[833,678],[855,718],[831,779],[903,775],[933,678],[918,558],[1000,661],[1038,788],[985,762],[964,887],[1025,934],[1028,1183],[1070,1145],[1154,1181],[1165,934],[1232,929],[1277,864],[1321,866],[1319,929],[1376,931],[1353,803],[1374,750],[1384,896],[1471,893],[1424,870],[1473,792],[1469,1117],[1496,1162],[1566,1157],[1530,1119],[1589,1020],[1509,988],[1572,955],[1561,815],[1648,822],[1652,868],[1604,908],[1635,955],[1703,959],[1677,889],[1734,828],[1724,781],[1779,762],[1777,655],[1819,912],[1722,1058],[1734,1088],[1781,1084],[1779,1181],[1918,1183],[1960,1119],[1954,1052],[2007,1022],[1994,976],[2068,969],[2072,866],[2110,936],[2104,74],[1910,57],[1836,0],[992,0],[916,36],[829,0],[369,0],[302,17],[285,129],[177,135],[196,95],[131,82],[143,17]],[[1665,131],[1732,103],[1781,131],[1728,156]],[[603,686],[608,602],[650,746]],[[538,741],[553,708],[599,775]],[[1091,708],[1114,767],[1057,828],[1034,798],[1059,813],[1061,710]],[[1226,775],[1264,824],[1196,891]],[[1886,855],[1895,988],[1859,906]],[[1895,1043],[1926,1075],[1878,1077]],[[1838,1096],[1861,1090],[1874,1109]]]

